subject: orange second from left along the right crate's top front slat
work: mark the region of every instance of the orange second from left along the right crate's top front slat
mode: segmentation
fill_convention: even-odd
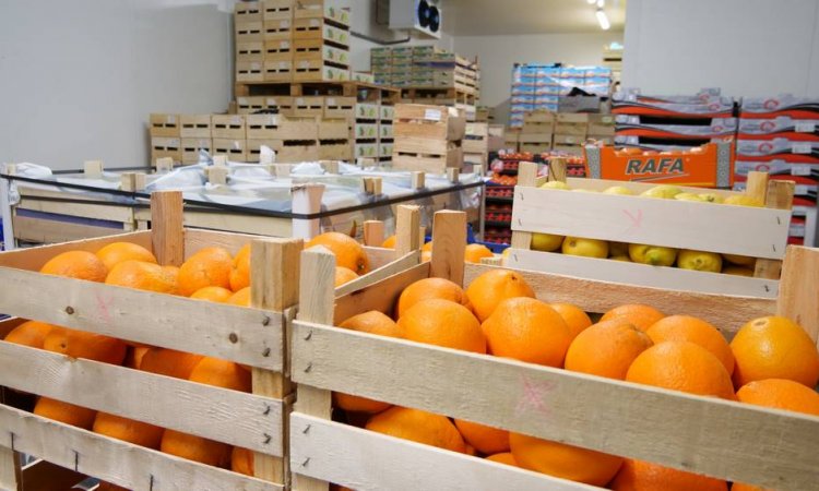
[[[423,300],[404,312],[399,327],[417,343],[486,352],[486,338],[470,309],[449,300]]]

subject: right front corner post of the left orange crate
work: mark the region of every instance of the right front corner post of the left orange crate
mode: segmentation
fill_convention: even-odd
[[[250,306],[283,314],[283,325],[287,323],[284,312],[298,303],[299,294],[299,254],[304,248],[300,239],[259,239],[250,243]],[[290,384],[287,328],[283,332],[282,346],[275,349],[285,354],[282,372],[274,372],[253,367],[253,394],[286,399],[293,392]],[[288,448],[289,411],[285,406],[282,419],[277,421],[283,429],[283,456],[274,457],[256,453],[253,472],[256,477],[271,482],[289,484]]]

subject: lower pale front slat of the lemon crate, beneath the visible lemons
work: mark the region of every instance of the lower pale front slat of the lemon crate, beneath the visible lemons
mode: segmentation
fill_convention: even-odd
[[[513,249],[505,265],[515,270],[541,271],[565,276],[581,276],[601,282],[642,285],[667,290],[743,297],[776,298],[779,280],[748,278],[648,264],[582,258],[556,252]]]

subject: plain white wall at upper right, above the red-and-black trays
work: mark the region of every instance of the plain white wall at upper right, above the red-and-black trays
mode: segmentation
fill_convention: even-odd
[[[622,86],[819,95],[819,0],[629,0]]]

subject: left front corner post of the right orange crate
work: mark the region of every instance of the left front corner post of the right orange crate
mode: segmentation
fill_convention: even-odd
[[[299,311],[297,319],[304,322],[332,325],[335,295],[335,256],[323,247],[310,248],[301,252],[301,272],[299,285]],[[294,330],[293,336],[301,336],[309,340],[312,336],[309,328]],[[296,371],[309,372],[311,360],[293,360],[290,373]],[[329,420],[332,415],[332,393],[330,391],[299,384],[296,388],[296,404],[294,410],[300,414]],[[309,434],[309,424],[302,428],[290,428],[292,432],[301,431]],[[292,454],[295,458],[295,454]],[[299,470],[310,465],[309,456],[290,460],[293,472],[293,489],[295,491],[327,491],[329,484],[324,481],[299,474]]]

